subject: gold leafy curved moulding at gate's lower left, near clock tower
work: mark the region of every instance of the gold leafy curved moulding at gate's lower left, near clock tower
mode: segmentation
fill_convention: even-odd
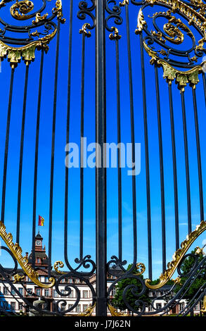
[[[4,223],[0,221],[0,237],[4,240],[6,246],[8,246],[8,249],[10,249],[11,253],[15,257],[15,259],[20,264],[22,270],[27,274],[28,277],[30,277],[30,280],[34,282],[34,284],[38,285],[39,287],[44,287],[49,289],[50,287],[53,287],[55,285],[56,280],[53,277],[49,278],[50,284],[43,284],[39,282],[39,274],[37,271],[35,271],[32,266],[28,263],[27,256],[22,256],[22,249],[19,246],[19,244],[13,244],[13,236],[11,233],[6,232],[6,227]],[[15,276],[15,281],[17,282],[19,279],[19,275]]]

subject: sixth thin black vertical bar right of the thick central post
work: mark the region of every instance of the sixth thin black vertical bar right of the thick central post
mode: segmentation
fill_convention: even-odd
[[[182,108],[182,119],[184,128],[184,150],[185,150],[185,163],[186,163],[186,189],[187,189],[187,205],[188,205],[188,233],[192,231],[192,217],[191,217],[191,185],[190,185],[190,171],[189,171],[189,160],[188,160],[188,137],[186,127],[186,108],[184,99],[184,90],[181,89],[181,108]]]

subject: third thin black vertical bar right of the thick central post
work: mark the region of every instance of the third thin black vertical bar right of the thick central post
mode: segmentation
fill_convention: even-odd
[[[152,273],[152,234],[151,234],[151,210],[150,210],[150,168],[149,168],[149,151],[148,151],[148,123],[147,123],[147,104],[146,104],[146,77],[143,54],[143,36],[140,34],[141,47],[141,77],[143,92],[143,120],[145,135],[145,154],[146,154],[146,190],[147,190],[147,216],[148,216],[148,275],[150,280],[153,278]]]

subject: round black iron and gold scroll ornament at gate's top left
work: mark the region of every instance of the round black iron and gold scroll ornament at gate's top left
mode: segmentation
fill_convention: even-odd
[[[49,42],[56,36],[58,27],[55,18],[60,23],[65,23],[63,18],[62,2],[57,0],[51,14],[45,13],[46,0],[42,0],[41,8],[35,8],[32,1],[22,0],[16,1],[15,4],[9,4],[11,0],[2,0],[0,2],[1,17],[4,17],[4,12],[10,9],[11,17],[18,22],[25,22],[27,25],[11,25],[0,18],[0,58],[8,58],[11,67],[15,68],[21,59],[29,65],[35,58],[36,49],[49,50]],[[9,33],[13,32],[13,36],[9,37]],[[22,38],[19,34],[22,33]],[[18,36],[18,37],[16,37]]]

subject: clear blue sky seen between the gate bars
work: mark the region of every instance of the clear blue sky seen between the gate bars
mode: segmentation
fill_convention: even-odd
[[[37,4],[41,1],[37,1]],[[82,35],[79,29],[83,23],[76,18],[78,2],[74,1],[73,49],[72,49],[72,85],[71,85],[71,110],[70,110],[70,142],[79,144],[80,134],[80,96],[81,96],[81,48]],[[55,1],[48,3],[53,7]],[[5,15],[10,23],[16,23],[6,10],[2,8],[2,17]],[[48,12],[50,12],[48,9]],[[154,12],[152,8],[151,13]],[[159,8],[158,8],[159,9]],[[141,62],[139,36],[134,34],[136,18],[139,7],[130,9],[131,30],[131,60],[134,82],[134,121],[135,140],[141,143],[141,173],[136,177],[136,204],[137,204],[137,236],[138,236],[138,261],[148,266],[147,249],[147,216],[146,216],[146,172],[144,154],[143,132],[143,104],[141,90]],[[65,182],[65,139],[66,139],[66,112],[67,112],[67,66],[68,66],[68,35],[69,35],[69,1],[63,0],[63,13],[67,19],[60,29],[60,61],[58,73],[58,99],[56,113],[56,145],[55,145],[55,170],[53,189],[53,255],[52,261],[64,260],[63,258],[63,230],[64,230],[64,182]],[[120,35],[120,90],[121,90],[121,120],[122,142],[131,142],[130,115],[129,115],[129,79],[127,64],[127,35],[125,30],[124,8],[122,9],[124,23],[119,27]],[[22,22],[21,22],[22,24]],[[111,22],[111,25],[113,23]],[[195,33],[195,32],[194,32]],[[86,39],[85,57],[85,109],[84,109],[84,136],[88,144],[95,142],[95,31],[91,31],[91,38]],[[115,42],[108,39],[106,32],[106,70],[107,70],[107,141],[117,142],[117,115],[116,115],[116,81],[115,81]],[[186,44],[188,46],[188,44]],[[180,46],[181,47],[181,46]],[[56,39],[49,45],[49,52],[44,57],[44,77],[41,100],[41,118],[39,132],[39,163],[37,185],[37,216],[45,218],[44,227],[40,233],[44,237],[44,244],[48,247],[49,230],[49,185],[51,167],[51,129],[53,112],[54,66],[55,66]],[[36,59],[30,65],[27,113],[25,122],[25,144],[22,172],[22,200],[20,218],[20,246],[22,250],[31,250],[32,246],[32,199],[34,180],[34,148],[35,130],[37,120],[37,96],[39,85],[39,60],[40,52],[36,52]],[[162,271],[162,243],[161,243],[161,201],[160,201],[160,165],[158,154],[157,109],[155,99],[154,67],[149,63],[150,58],[145,54],[146,66],[146,94],[148,110],[148,142],[150,153],[150,196],[152,216],[152,243],[153,243],[153,278],[157,278]],[[200,61],[201,62],[201,61]],[[1,63],[1,113],[0,113],[0,187],[2,185],[4,167],[4,142],[6,135],[6,116],[8,108],[8,87],[10,81],[10,66],[6,60]],[[172,260],[175,251],[174,237],[174,190],[172,170],[172,142],[169,120],[169,98],[167,84],[160,72],[160,95],[162,115],[162,139],[165,167],[165,208],[167,231],[167,261]],[[18,167],[20,152],[20,130],[22,118],[22,101],[25,77],[25,64],[20,63],[15,70],[14,93],[11,109],[11,132],[9,137],[8,177],[6,186],[6,213],[5,225],[8,232],[15,237],[15,223],[17,215],[18,194]],[[201,79],[201,77],[200,77]],[[174,99],[174,122],[176,134],[176,159],[179,193],[179,232],[180,242],[186,238],[187,205],[186,205],[186,175],[184,163],[184,135],[181,116],[181,96],[176,85],[172,85]],[[198,197],[198,165],[196,156],[195,124],[193,117],[193,100],[191,88],[186,92],[186,118],[188,127],[188,150],[191,175],[191,205],[192,227],[200,223],[200,205]],[[202,153],[202,180],[204,201],[205,196],[205,101],[202,82],[197,86],[198,116],[200,125],[200,144]],[[117,255],[117,169],[108,169],[108,260],[110,256]],[[1,201],[1,191],[0,191]],[[79,256],[79,169],[69,170],[69,215],[68,215],[68,256],[70,263],[75,266],[74,260]],[[95,170],[84,170],[84,255],[90,254],[95,258]],[[122,169],[122,226],[123,226],[123,258],[131,263],[133,261],[133,234],[132,234],[132,193],[131,177],[127,169]],[[38,230],[38,227],[37,227]],[[195,245],[202,246],[205,235],[201,235]],[[15,238],[14,238],[15,241]],[[2,255],[2,258],[4,256]],[[3,258],[4,266],[10,262]],[[147,270],[146,270],[147,274]]]

